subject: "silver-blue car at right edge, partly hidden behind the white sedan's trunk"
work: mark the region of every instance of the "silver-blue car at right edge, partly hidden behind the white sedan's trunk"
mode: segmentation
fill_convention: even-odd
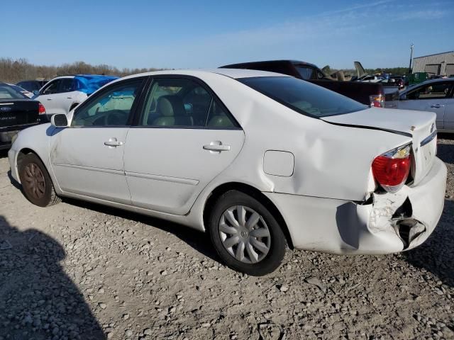
[[[431,79],[400,92],[397,108],[436,113],[440,132],[454,132],[454,79]]]

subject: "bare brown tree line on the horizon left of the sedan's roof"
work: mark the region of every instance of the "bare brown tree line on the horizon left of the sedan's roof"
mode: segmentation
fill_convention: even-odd
[[[0,81],[16,84],[18,81],[31,79],[52,79],[64,74],[105,74],[109,76],[124,77],[129,74],[157,71],[155,68],[143,69],[118,69],[106,64],[91,65],[86,62],[73,62],[60,66],[34,65],[26,59],[0,58]]]

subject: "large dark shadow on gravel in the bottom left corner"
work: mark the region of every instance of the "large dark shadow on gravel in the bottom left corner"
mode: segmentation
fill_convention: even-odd
[[[55,239],[0,215],[0,339],[104,339],[64,259]]]

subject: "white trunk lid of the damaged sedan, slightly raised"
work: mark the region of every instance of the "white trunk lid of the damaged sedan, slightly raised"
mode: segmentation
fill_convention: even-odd
[[[345,115],[323,117],[321,120],[336,125],[384,130],[411,137],[411,149],[414,156],[411,174],[415,185],[426,176],[435,160],[437,144],[435,113],[368,108]],[[379,155],[377,154],[377,156]]]

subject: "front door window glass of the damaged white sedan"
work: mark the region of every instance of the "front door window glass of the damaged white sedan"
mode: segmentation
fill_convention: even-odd
[[[124,126],[142,80],[111,86],[74,112],[71,126]]]

